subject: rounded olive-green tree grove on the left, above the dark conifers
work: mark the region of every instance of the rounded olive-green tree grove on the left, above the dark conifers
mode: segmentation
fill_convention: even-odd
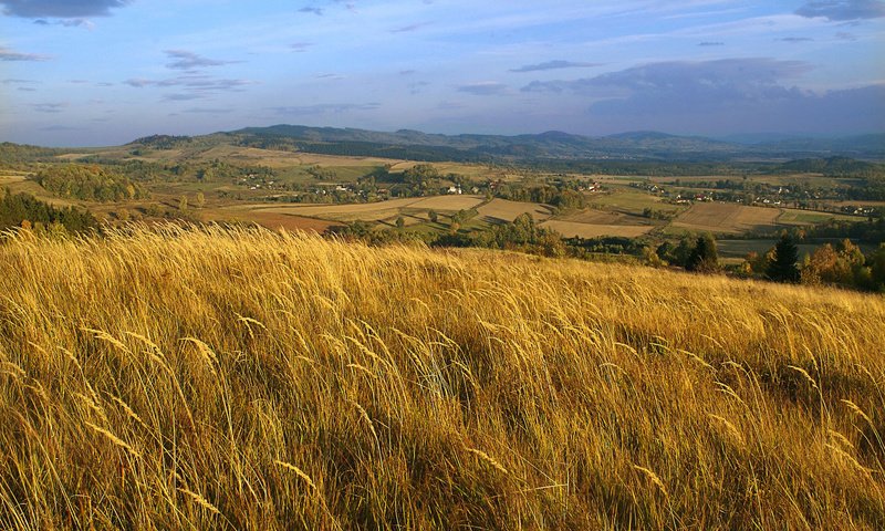
[[[38,171],[33,179],[56,196],[85,201],[119,201],[148,197],[146,190],[127,177],[97,165],[53,165]]]

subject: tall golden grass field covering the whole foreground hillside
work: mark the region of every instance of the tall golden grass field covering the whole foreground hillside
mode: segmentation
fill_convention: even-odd
[[[885,299],[127,226],[0,243],[3,529],[883,529]]]

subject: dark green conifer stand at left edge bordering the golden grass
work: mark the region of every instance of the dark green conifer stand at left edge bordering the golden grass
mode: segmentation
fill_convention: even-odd
[[[98,227],[98,220],[86,210],[55,208],[28,194],[0,189],[0,229],[24,227],[35,231],[79,233]]]

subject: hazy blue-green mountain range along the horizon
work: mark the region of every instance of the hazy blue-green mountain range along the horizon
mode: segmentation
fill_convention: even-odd
[[[133,144],[167,148],[188,137],[153,136]],[[273,125],[247,127],[199,137],[202,142],[298,149],[329,155],[373,156],[414,160],[787,160],[852,157],[885,160],[885,134],[844,138],[778,138],[743,144],[700,136],[633,132],[587,137],[558,131],[535,135],[439,135],[400,129],[394,133],[357,128]]]

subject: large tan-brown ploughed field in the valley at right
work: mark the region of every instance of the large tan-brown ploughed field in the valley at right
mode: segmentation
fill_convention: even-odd
[[[710,232],[770,230],[777,226],[780,214],[777,208],[698,202],[679,215],[671,225],[676,228]]]

